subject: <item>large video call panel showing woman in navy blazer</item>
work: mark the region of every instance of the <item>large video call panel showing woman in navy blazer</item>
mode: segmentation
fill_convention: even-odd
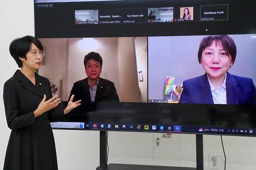
[[[255,37],[149,37],[149,101],[255,105]]]

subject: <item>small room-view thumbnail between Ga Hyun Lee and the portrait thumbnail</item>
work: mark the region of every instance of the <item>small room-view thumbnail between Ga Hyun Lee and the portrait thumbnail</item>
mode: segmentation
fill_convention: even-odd
[[[173,7],[148,8],[148,22],[172,22]]]

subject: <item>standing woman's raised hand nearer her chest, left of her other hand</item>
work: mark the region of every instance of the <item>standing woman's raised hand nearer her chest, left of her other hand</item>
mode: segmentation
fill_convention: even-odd
[[[58,106],[58,104],[61,102],[61,99],[57,99],[57,97],[58,95],[46,101],[46,95],[44,94],[43,100],[39,103],[37,110],[34,112],[35,118],[42,115],[44,112],[47,112],[48,110]]]

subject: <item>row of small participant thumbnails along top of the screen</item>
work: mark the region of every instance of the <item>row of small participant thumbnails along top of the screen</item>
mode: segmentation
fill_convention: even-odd
[[[194,20],[194,7],[179,7],[179,11],[175,12],[179,13],[177,14],[179,18],[174,18],[174,7],[75,10],[75,24],[129,24]],[[228,4],[202,5],[200,6],[200,18],[196,20],[228,20]]]

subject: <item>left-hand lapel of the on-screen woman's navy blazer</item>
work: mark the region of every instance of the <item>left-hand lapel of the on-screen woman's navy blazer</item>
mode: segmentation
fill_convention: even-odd
[[[200,95],[204,104],[213,104],[212,92],[210,91],[210,84],[207,74],[205,73],[200,79]]]

